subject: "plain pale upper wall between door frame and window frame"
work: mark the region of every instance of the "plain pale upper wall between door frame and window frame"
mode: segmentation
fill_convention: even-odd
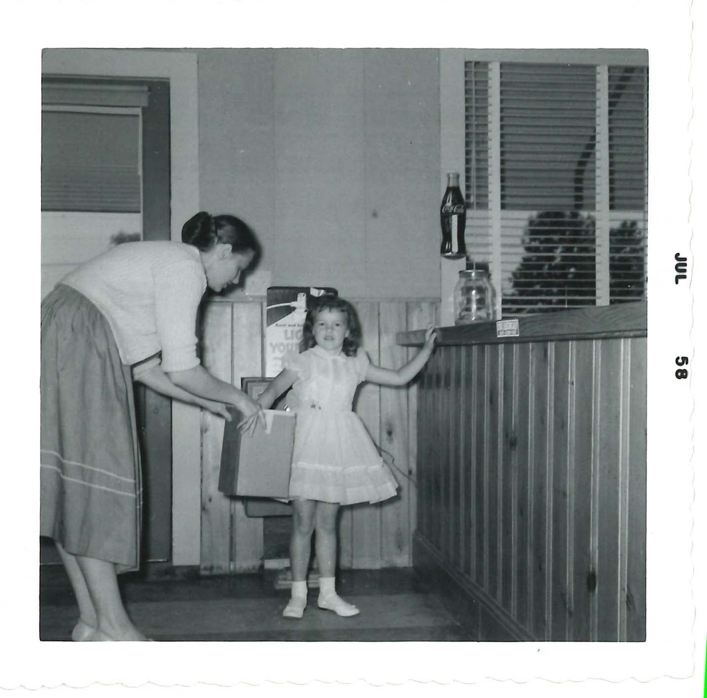
[[[201,202],[252,225],[273,285],[439,297],[438,53],[199,51]]]

